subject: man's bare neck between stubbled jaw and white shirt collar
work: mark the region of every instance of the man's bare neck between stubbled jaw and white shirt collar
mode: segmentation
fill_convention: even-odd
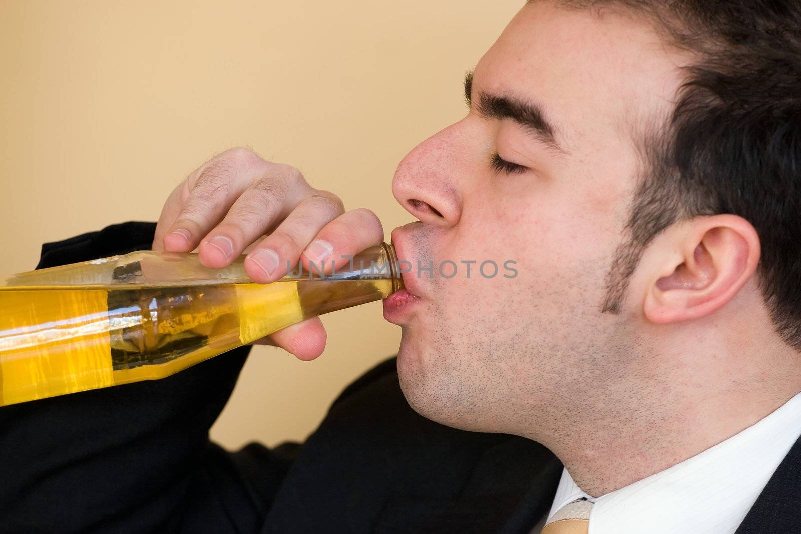
[[[709,339],[686,327],[683,334]],[[607,376],[608,383],[572,399],[562,416],[543,418],[549,428],[537,425],[529,437],[562,460],[582,491],[606,495],[735,436],[801,391],[799,355],[771,341],[751,337],[729,350],[700,352],[679,343],[673,351],[641,355],[640,363],[662,365],[630,368],[625,383]],[[748,346],[753,351],[743,351]],[[771,346],[777,351],[766,356]]]

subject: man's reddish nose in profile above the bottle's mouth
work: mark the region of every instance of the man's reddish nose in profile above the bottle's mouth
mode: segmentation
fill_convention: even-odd
[[[453,227],[461,215],[458,123],[426,139],[400,162],[392,194],[421,223]]]

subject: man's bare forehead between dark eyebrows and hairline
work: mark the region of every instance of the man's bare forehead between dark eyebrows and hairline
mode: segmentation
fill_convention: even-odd
[[[493,94],[536,100],[569,147],[621,139],[664,117],[681,83],[678,51],[644,18],[622,10],[566,10],[527,3],[475,69]]]

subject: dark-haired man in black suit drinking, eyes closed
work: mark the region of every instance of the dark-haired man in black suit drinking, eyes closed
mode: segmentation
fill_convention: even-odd
[[[400,259],[517,276],[406,275],[397,376],[348,387],[302,448],[207,443],[242,354],[3,410],[6,529],[801,532],[799,79],[796,2],[528,2],[392,184],[418,219]],[[268,282],[381,239],[342,212],[236,149],[173,191],[152,244],[209,267],[247,250]],[[312,359],[324,331],[268,342]]]

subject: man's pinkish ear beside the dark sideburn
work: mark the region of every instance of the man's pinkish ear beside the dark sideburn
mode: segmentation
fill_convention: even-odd
[[[645,315],[652,323],[700,319],[726,306],[755,274],[759,235],[736,215],[699,217],[670,235],[657,255]],[[670,250],[672,248],[672,250]]]

